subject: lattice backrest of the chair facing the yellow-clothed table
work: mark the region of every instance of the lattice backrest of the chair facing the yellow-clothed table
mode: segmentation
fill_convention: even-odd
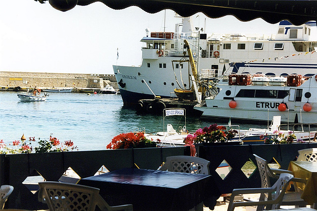
[[[272,170],[269,168],[267,161],[255,154],[253,154],[256,157],[259,172],[260,172],[260,177],[261,177],[261,184],[263,188],[268,188],[271,187],[271,183],[269,181],[269,177],[275,177],[274,173]]]

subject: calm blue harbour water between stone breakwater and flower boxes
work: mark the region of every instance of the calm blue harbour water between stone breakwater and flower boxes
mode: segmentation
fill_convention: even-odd
[[[0,92],[0,139],[4,143],[27,138],[59,141],[71,140],[80,151],[105,150],[111,139],[120,134],[146,128],[146,132],[163,130],[161,116],[138,115],[135,110],[123,108],[120,95],[87,95],[84,93],[49,93],[46,102],[20,102],[16,92]],[[182,127],[184,118],[166,117],[164,125]],[[187,115],[190,132],[218,123]],[[223,124],[223,123],[218,123]],[[232,122],[234,124],[234,122]],[[241,129],[255,127],[240,124]],[[265,125],[261,126],[265,127]]]

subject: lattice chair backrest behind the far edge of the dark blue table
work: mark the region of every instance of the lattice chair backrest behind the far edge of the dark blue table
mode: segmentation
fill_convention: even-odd
[[[210,174],[210,161],[191,156],[171,156],[166,158],[166,162],[160,170],[168,170],[174,172]]]

